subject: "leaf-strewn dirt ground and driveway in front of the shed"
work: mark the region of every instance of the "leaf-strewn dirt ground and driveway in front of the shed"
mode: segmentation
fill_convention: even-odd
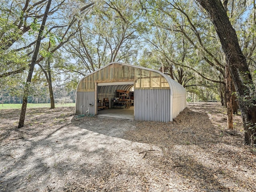
[[[192,103],[174,122],[77,118],[74,108],[0,110],[0,191],[256,191],[240,116]]]

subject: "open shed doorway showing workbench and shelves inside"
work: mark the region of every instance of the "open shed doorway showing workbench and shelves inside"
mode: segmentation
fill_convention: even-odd
[[[98,83],[97,114],[134,120],[134,81]]]

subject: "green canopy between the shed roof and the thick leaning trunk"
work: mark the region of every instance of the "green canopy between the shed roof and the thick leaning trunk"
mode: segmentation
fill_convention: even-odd
[[[221,45],[214,27],[196,8],[191,1],[150,1],[146,17],[150,33],[143,37],[150,43],[150,52],[158,52],[166,74],[190,92],[201,94],[208,88],[215,95],[218,84],[225,84],[225,60],[218,52]]]

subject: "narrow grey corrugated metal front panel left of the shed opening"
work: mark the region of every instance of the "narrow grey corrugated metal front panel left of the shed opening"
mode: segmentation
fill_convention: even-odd
[[[86,113],[87,108],[89,108],[89,113],[95,115],[95,92],[76,92],[76,113],[82,114]],[[90,105],[93,104],[93,105]]]

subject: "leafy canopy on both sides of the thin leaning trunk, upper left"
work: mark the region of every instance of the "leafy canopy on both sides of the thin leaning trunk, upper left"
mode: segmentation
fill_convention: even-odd
[[[1,2],[0,85],[12,86],[8,81],[30,68],[46,3],[47,0]],[[35,64],[40,64],[51,57],[74,36],[79,28],[80,16],[93,4],[89,1],[52,1]],[[77,9],[81,14],[74,11]],[[18,82],[24,84],[22,79]]]

